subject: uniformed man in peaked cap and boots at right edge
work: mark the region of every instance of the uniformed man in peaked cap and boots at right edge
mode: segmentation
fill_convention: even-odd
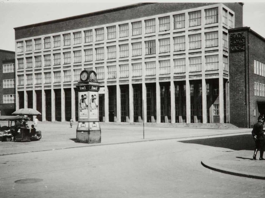
[[[265,146],[265,137],[263,132],[263,116],[258,117],[258,122],[253,125],[252,135],[255,141],[255,150],[253,155],[253,160],[256,160],[258,149],[260,149],[259,160],[265,160],[263,158],[264,146]]]

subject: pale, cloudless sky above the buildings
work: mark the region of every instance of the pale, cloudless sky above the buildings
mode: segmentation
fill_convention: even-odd
[[[15,51],[14,28],[141,2],[211,2],[207,0],[0,0],[0,49]],[[236,1],[218,1],[236,2]],[[243,26],[265,38],[265,3],[242,0]],[[262,22],[262,23],[261,23]]]

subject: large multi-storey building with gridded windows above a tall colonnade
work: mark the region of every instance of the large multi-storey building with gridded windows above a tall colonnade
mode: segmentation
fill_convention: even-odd
[[[242,3],[141,3],[15,28],[16,108],[77,119],[94,70],[100,121],[228,123],[228,29]]]

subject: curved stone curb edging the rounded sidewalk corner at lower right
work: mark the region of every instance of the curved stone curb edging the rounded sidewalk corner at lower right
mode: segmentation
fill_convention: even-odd
[[[248,172],[244,172],[244,171],[237,171],[237,170],[223,168],[223,167],[210,163],[209,160],[202,160],[201,164],[208,169],[212,169],[217,172],[221,172],[225,174],[236,175],[236,176],[247,177],[247,178],[254,178],[254,179],[265,179],[264,174],[249,174]]]

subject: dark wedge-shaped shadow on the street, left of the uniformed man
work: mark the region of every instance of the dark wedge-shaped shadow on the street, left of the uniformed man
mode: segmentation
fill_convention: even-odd
[[[233,135],[207,139],[193,139],[179,141],[182,143],[202,144],[212,147],[229,148],[232,150],[253,150],[255,143],[251,134]]]

